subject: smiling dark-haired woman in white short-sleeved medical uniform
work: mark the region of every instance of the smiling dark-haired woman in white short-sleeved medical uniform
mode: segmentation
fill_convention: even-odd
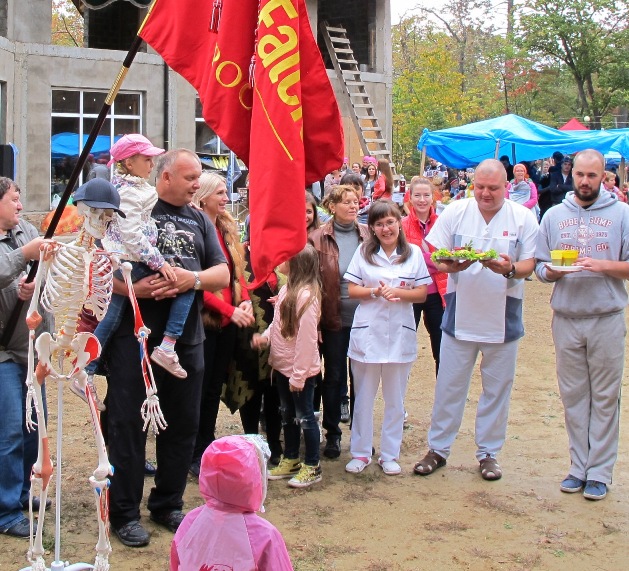
[[[413,303],[426,299],[431,277],[419,247],[409,244],[398,206],[378,200],[369,210],[369,239],[356,250],[345,273],[350,298],[360,300],[354,314],[348,356],[356,400],[345,470],[362,472],[371,464],[373,407],[382,380],[384,417],[378,464],[387,475],[397,463],[404,426],[404,393],[417,338]]]

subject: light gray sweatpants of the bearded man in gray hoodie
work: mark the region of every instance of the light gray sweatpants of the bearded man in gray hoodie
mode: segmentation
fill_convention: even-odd
[[[624,313],[588,319],[553,315],[570,474],[581,480],[612,481],[626,335]]]

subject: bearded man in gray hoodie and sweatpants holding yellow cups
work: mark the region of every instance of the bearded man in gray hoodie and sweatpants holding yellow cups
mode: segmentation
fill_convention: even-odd
[[[574,191],[541,222],[535,273],[554,283],[550,304],[559,392],[570,444],[563,492],[591,500],[607,494],[618,452],[620,386],[629,279],[629,207],[601,190],[605,160],[580,152]],[[549,267],[551,250],[577,249],[581,271]]]

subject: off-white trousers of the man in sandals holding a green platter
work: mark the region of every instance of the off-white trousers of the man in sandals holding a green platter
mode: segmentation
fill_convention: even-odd
[[[428,446],[448,458],[465,410],[465,401],[478,353],[482,392],[476,409],[476,458],[496,457],[507,433],[511,388],[520,341],[477,343],[443,334],[435,402],[428,431]]]

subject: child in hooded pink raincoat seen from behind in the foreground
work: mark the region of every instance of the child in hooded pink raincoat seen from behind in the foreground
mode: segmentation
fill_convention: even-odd
[[[207,447],[199,474],[205,505],[181,522],[171,571],[293,571],[280,532],[255,513],[266,497],[268,456],[257,436],[226,436]]]

